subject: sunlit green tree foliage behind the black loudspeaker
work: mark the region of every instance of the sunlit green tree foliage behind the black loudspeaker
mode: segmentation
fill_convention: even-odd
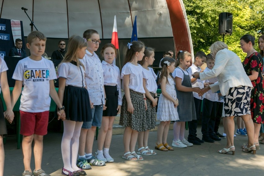
[[[209,46],[222,41],[218,34],[218,16],[221,12],[233,14],[233,33],[225,36],[225,42],[241,60],[245,53],[240,49],[240,37],[251,34],[258,37],[264,33],[264,3],[259,0],[183,0],[186,9],[193,50],[209,53]],[[255,49],[258,51],[257,45]]]

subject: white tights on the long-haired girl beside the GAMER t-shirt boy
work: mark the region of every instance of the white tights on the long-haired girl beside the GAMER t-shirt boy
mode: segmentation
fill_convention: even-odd
[[[61,140],[61,154],[63,159],[64,168],[73,172],[79,170],[76,165],[79,137],[81,133],[81,126],[83,122],[76,122],[64,120],[64,130]]]

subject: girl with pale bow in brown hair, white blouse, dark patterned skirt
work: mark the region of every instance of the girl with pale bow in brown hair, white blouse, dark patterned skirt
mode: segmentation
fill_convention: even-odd
[[[121,71],[122,85],[125,95],[122,100],[119,125],[125,126],[123,142],[124,155],[122,158],[129,161],[143,160],[137,155],[135,146],[139,131],[146,131],[146,97],[143,88],[143,78],[146,78],[143,67],[138,64],[144,56],[145,46],[143,42],[134,41],[128,43],[124,67]]]

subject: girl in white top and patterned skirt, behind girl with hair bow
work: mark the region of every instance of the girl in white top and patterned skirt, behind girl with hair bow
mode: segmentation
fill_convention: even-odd
[[[146,131],[140,131],[138,137],[138,154],[142,155],[156,155],[157,153],[150,150],[147,146],[149,130],[156,127],[156,106],[158,102],[157,96],[157,75],[154,73],[153,69],[148,67],[152,65],[154,58],[154,49],[151,47],[145,47],[143,59],[140,61],[140,65],[143,67],[143,72],[146,74],[147,78],[143,79],[143,86],[145,90],[145,95],[147,98],[147,111],[146,111]]]

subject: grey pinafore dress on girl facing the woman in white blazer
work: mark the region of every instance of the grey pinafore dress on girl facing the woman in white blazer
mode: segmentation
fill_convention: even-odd
[[[175,69],[180,69],[183,72],[183,70],[179,67],[177,67]],[[186,70],[186,72],[188,72],[188,71]],[[184,75],[184,77],[183,77],[182,86],[191,87],[190,75],[186,75],[184,72],[183,72],[183,75]],[[177,107],[178,115],[179,115],[178,121],[196,120],[196,112],[195,112],[193,93],[192,92],[183,92],[183,91],[177,90],[176,87],[175,87],[175,90],[176,90],[177,98],[179,101],[179,105]]]

